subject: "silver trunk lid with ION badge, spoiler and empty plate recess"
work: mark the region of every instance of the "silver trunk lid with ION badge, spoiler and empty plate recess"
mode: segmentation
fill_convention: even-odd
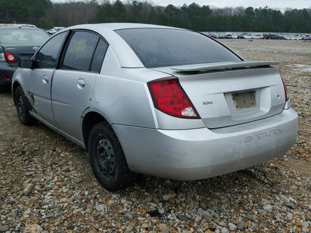
[[[277,62],[229,62],[153,68],[178,78],[207,128],[237,125],[283,110]]]

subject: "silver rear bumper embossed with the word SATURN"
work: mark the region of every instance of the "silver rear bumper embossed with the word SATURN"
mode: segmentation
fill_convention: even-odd
[[[173,180],[200,180],[255,166],[286,152],[298,115],[282,113],[223,130],[155,130],[113,125],[133,172]],[[216,130],[217,131],[217,130]]]

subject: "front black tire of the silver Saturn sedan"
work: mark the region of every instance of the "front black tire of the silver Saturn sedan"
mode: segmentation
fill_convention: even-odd
[[[20,123],[27,126],[35,125],[35,123],[37,123],[37,119],[29,113],[31,106],[21,86],[18,86],[15,91],[15,103]]]

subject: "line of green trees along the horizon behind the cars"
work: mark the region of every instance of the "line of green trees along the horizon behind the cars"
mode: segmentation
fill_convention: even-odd
[[[272,9],[267,6],[215,8],[197,3],[163,7],[151,1],[0,0],[0,23],[35,24],[41,28],[84,23],[149,23],[196,31],[311,33],[311,7]]]

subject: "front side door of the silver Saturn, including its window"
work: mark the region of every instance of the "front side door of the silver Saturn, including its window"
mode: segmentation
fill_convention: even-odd
[[[29,94],[37,116],[55,125],[51,104],[51,83],[60,50],[68,32],[53,36],[35,55],[34,68],[29,74]]]

